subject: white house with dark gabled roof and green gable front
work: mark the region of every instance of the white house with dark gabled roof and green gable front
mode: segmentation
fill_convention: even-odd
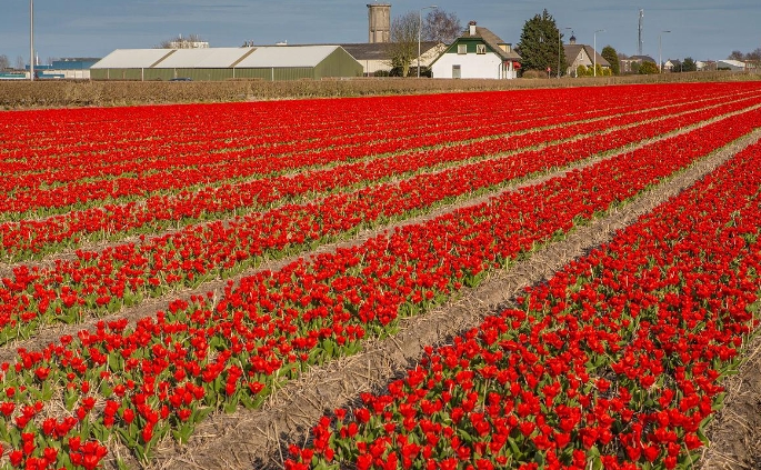
[[[431,70],[433,78],[514,79],[520,61],[512,44],[471,21],[463,36],[433,61]]]

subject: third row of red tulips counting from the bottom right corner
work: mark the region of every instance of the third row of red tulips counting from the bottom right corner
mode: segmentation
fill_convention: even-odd
[[[689,158],[742,136],[758,121],[758,111],[727,118],[692,132],[672,137],[652,148],[672,151],[693,146]],[[742,124],[735,124],[744,121]],[[645,134],[654,122],[639,129]],[[629,137],[633,131],[620,131]],[[715,134],[705,143],[705,136]],[[77,260],[59,260],[53,268],[20,266],[0,288],[0,341],[28,337],[40,324],[76,322],[88,312],[114,312],[147,296],[161,296],[178,287],[196,287],[203,280],[252,266],[262,256],[282,257],[327,238],[410,217],[461,194],[503,184],[532,171],[564,166],[623,142],[595,136],[572,144],[481,161],[448,171],[420,174],[399,183],[380,184],[352,193],[338,193],[302,206],[287,204],[254,213],[223,226],[211,222],[177,233],[126,243],[100,252],[78,251]],[[708,146],[708,147],[707,147]],[[620,159],[620,157],[619,157]],[[681,163],[681,160],[674,160]],[[665,168],[665,167],[664,167]]]

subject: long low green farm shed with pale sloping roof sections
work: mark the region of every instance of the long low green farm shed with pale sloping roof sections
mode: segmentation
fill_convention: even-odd
[[[360,77],[340,46],[118,49],[90,69],[93,80],[300,80]]]

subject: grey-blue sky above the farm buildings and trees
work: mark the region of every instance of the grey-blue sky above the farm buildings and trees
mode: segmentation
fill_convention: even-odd
[[[199,34],[211,47],[244,41],[273,44],[368,41],[372,0],[37,0],[34,46],[48,58],[104,57],[114,49],[152,48],[178,34]],[[578,43],[638,52],[639,10],[644,10],[643,53],[694,60],[725,59],[731,51],[761,48],[760,0],[434,0],[462,24],[475,20],[505,42],[518,43],[523,24],[547,8]],[[392,0],[391,16],[418,12],[431,3]],[[662,31],[670,30],[670,33]],[[570,30],[563,31],[564,40]],[[2,0],[0,54],[12,64],[29,58],[29,1]]]

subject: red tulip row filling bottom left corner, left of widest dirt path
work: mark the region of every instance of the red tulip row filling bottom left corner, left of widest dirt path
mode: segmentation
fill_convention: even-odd
[[[0,439],[10,444],[12,464],[41,468],[92,468],[111,438],[140,457],[170,432],[182,441],[210,410],[258,406],[280,380],[357,351],[368,332],[392,332],[399,314],[477,283],[484,269],[635,196],[760,119],[759,111],[728,118],[700,133],[243,279],[216,303],[177,301],[134,328],[103,322],[43,351],[21,350],[12,367],[1,367],[7,400],[0,403]],[[54,417],[53,403],[71,417]]]

